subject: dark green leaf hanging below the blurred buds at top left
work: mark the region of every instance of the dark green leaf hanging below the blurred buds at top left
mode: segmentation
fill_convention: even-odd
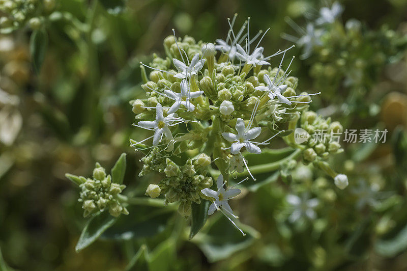
[[[45,53],[48,46],[48,35],[44,29],[34,31],[30,39],[30,52],[31,60],[33,62],[34,70],[40,73],[42,63],[45,59]]]

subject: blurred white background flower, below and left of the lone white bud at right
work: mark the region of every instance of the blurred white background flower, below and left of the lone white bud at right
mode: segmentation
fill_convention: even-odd
[[[288,220],[292,223],[305,216],[311,220],[316,218],[316,212],[314,208],[318,206],[318,199],[308,199],[307,195],[303,195],[302,198],[296,195],[287,195],[287,202],[294,207],[293,212],[288,217]]]

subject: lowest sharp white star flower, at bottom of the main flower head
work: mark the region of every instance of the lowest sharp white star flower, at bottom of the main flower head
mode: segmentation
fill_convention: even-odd
[[[210,197],[213,199],[211,206],[209,206],[208,215],[211,215],[215,212],[215,210],[219,208],[223,208],[226,212],[233,214],[232,209],[230,208],[227,201],[231,198],[236,197],[240,194],[240,189],[238,188],[230,188],[225,190],[223,188],[223,175],[219,175],[218,179],[216,180],[216,186],[218,191],[213,191],[210,188],[202,189],[201,192],[203,195]]]

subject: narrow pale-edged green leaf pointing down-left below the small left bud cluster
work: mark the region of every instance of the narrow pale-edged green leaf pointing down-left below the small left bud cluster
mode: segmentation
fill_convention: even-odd
[[[75,251],[79,252],[84,248],[90,246],[94,241],[96,241],[99,236],[111,227],[118,218],[111,216],[109,212],[101,212],[93,216],[80,234],[79,240],[76,243]]]

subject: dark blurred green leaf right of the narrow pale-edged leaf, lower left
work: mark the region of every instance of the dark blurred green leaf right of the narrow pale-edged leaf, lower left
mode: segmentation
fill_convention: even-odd
[[[175,210],[150,206],[129,206],[130,215],[123,216],[103,234],[104,239],[130,240],[150,237],[164,231]]]

